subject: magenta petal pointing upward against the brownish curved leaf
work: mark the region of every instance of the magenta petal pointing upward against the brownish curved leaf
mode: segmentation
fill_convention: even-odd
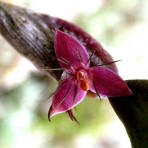
[[[88,65],[89,55],[83,45],[69,34],[56,30],[54,46],[56,56],[62,68],[78,69],[83,65]]]

